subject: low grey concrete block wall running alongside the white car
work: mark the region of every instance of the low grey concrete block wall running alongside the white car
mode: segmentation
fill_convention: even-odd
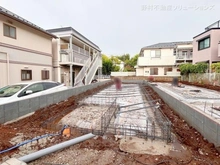
[[[49,105],[64,101],[71,96],[76,96],[80,93],[97,88],[98,86],[104,85],[109,82],[111,82],[111,80],[93,83],[81,87],[74,87],[52,94],[0,105],[0,124],[17,119],[28,113],[35,112],[40,108],[44,108]]]

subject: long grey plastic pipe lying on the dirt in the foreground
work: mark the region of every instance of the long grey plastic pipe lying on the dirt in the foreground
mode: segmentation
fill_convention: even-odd
[[[50,153],[53,153],[53,152],[56,152],[58,150],[62,150],[66,147],[69,147],[71,145],[74,145],[74,144],[77,144],[77,143],[80,143],[82,141],[85,141],[85,140],[88,140],[90,138],[93,138],[95,137],[95,135],[93,135],[92,133],[89,133],[89,134],[86,134],[86,135],[83,135],[83,136],[80,136],[80,137],[77,137],[75,139],[71,139],[71,140],[68,140],[68,141],[65,141],[65,142],[62,142],[60,144],[56,144],[54,146],[51,146],[51,147],[48,147],[48,148],[45,148],[45,149],[42,149],[42,150],[39,150],[37,152],[34,152],[34,153],[31,153],[29,155],[25,155],[23,157],[20,157],[18,158],[20,161],[23,161],[25,163],[28,163],[28,162],[31,162],[33,160],[36,160],[42,156],[45,156],[45,155],[48,155]]]

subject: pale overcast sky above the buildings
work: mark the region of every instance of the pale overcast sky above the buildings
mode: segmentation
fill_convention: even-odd
[[[219,0],[0,0],[0,6],[44,29],[71,26],[106,55],[191,41],[220,20]]]

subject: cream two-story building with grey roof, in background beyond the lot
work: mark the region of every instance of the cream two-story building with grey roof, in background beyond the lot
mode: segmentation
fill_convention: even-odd
[[[179,76],[178,65],[192,62],[192,42],[165,42],[143,47],[136,76]]]

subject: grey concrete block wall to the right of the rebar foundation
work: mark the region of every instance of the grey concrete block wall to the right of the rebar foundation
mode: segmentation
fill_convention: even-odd
[[[150,84],[148,85],[152,87],[152,89],[157,92],[158,95],[190,126],[194,127],[216,147],[220,147],[220,124],[217,121],[213,120],[201,110],[190,107],[189,104],[176,99],[156,86]]]

